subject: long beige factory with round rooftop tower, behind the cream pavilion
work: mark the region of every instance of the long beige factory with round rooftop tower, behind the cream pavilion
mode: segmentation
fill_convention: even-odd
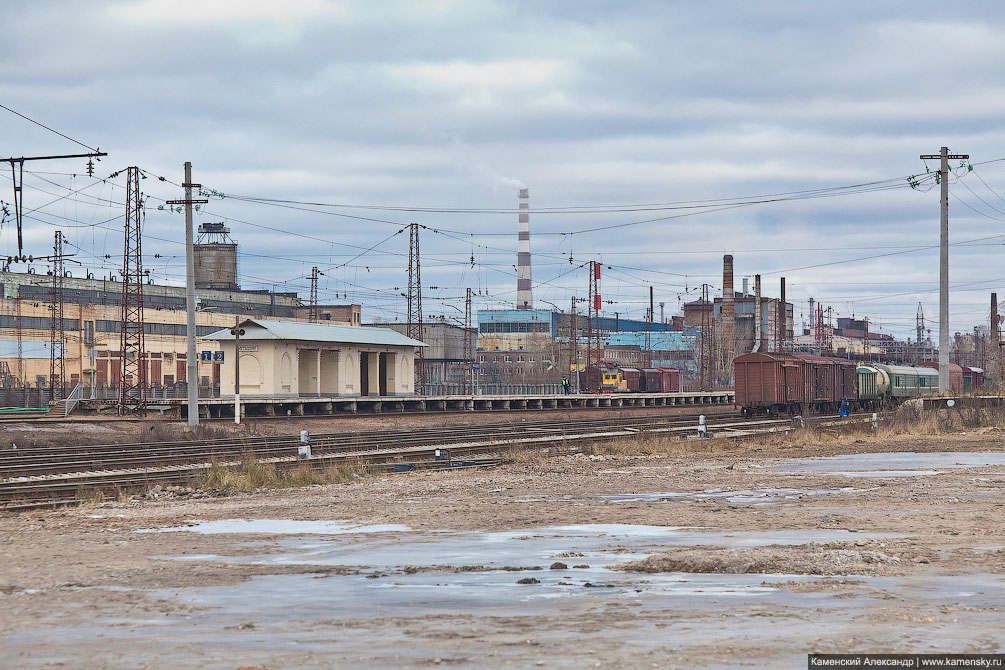
[[[309,317],[310,306],[296,293],[240,288],[237,244],[222,224],[204,224],[199,232],[200,244],[195,246],[197,338],[249,316]],[[117,276],[93,277],[88,273],[73,277],[67,273],[57,278],[29,266],[27,272],[0,272],[0,368],[5,386],[47,387],[55,342],[56,357],[62,354],[66,387],[78,382],[89,387],[91,380],[99,393],[118,387],[123,283]],[[58,294],[61,302],[54,298]],[[55,332],[54,311],[62,313]],[[326,322],[359,325],[362,320],[358,304],[320,305],[318,311]],[[186,382],[185,287],[148,279],[143,284],[143,321],[146,385],[170,390]],[[65,344],[62,351],[60,342]],[[200,360],[200,387],[212,393],[219,382],[220,366],[211,359]]]

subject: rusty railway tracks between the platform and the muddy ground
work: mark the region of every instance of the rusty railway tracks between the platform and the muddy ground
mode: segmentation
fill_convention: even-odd
[[[832,425],[848,420],[822,417],[818,422]],[[708,425],[716,437],[795,429],[788,419],[744,419],[739,413],[712,416]],[[579,448],[598,441],[696,432],[696,416],[675,416],[328,433],[311,436],[309,463],[323,467],[355,460],[375,470],[488,465],[518,448]],[[0,509],[45,507],[146,490],[155,484],[190,483],[214,464],[238,465],[248,454],[279,469],[295,468],[304,462],[296,456],[299,446],[298,436],[263,436],[4,450],[0,452]],[[437,450],[446,450],[449,459],[437,459]]]

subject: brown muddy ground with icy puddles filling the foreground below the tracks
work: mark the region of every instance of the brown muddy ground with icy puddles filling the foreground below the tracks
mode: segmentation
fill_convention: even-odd
[[[7,514],[0,667],[805,667],[809,652],[1001,653],[1003,437],[681,442]],[[846,454],[886,455],[803,460]]]

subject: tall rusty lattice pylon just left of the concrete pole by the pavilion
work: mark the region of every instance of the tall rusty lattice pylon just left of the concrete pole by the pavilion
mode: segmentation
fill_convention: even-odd
[[[143,201],[140,169],[127,169],[123,302],[119,347],[119,414],[147,409],[147,355],[143,327]],[[190,383],[193,383],[190,381]]]

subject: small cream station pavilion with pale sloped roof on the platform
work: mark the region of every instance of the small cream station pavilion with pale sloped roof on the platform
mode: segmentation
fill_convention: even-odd
[[[221,396],[248,398],[410,396],[421,342],[391,328],[245,319],[240,344],[231,328],[204,340],[223,353]],[[235,351],[240,347],[240,351]]]

